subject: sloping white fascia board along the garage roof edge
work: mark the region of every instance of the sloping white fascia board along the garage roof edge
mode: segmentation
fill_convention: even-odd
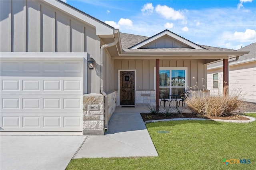
[[[44,2],[46,2],[47,4],[50,4],[55,8],[58,8],[62,12],[68,13],[69,15],[72,15],[75,18],[78,18],[86,22],[86,24],[94,26],[96,28],[97,35],[113,35],[114,34],[114,28],[112,28],[111,26],[108,26],[107,24],[103,24],[90,16],[86,16],[85,14],[82,14],[81,12],[75,9],[72,9],[69,6],[62,4],[62,2],[58,2],[56,0],[44,0]]]

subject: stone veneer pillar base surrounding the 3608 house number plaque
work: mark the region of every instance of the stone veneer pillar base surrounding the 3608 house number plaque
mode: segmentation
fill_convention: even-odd
[[[83,96],[83,133],[104,134],[104,101],[102,94],[86,94]],[[88,111],[88,105],[99,105],[96,111]]]

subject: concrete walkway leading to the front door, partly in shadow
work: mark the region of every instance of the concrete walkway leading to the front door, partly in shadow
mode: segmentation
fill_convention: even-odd
[[[104,136],[88,136],[74,158],[158,156],[140,116],[145,107],[117,107]]]

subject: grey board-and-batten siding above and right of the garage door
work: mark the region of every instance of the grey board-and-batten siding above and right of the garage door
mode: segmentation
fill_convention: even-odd
[[[44,1],[0,1],[1,52],[87,52],[100,61],[96,28]],[[87,71],[88,93],[100,93],[100,77]],[[97,66],[100,69],[100,66]],[[91,85],[93,84],[93,85]]]

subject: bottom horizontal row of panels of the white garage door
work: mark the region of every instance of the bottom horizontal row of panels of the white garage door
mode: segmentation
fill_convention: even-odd
[[[2,131],[81,131],[82,116],[78,113],[1,115]]]

